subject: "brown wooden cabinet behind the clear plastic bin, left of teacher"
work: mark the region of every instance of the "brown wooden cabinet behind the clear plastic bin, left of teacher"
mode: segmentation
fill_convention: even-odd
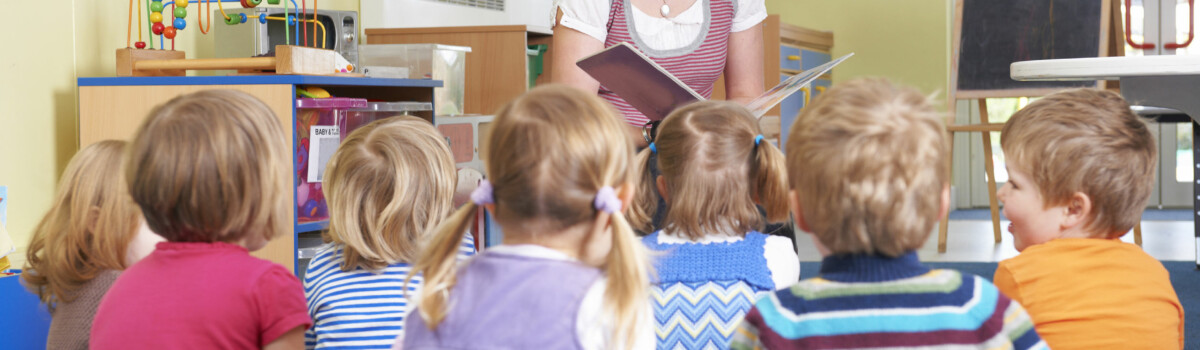
[[[470,47],[467,54],[463,113],[493,114],[529,86],[527,47],[550,46],[551,31],[530,25],[367,29],[368,44],[439,43]],[[542,54],[546,70],[538,84],[550,82],[552,52]]]

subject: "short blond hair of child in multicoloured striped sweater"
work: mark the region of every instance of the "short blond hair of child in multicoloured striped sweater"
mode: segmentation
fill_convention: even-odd
[[[920,248],[947,186],[947,134],[930,98],[886,79],[835,85],[804,108],[787,173],[814,235],[838,254]]]

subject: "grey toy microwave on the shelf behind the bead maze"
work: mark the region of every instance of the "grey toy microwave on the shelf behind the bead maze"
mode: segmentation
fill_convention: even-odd
[[[212,26],[217,58],[257,56],[270,53],[275,46],[293,44],[331,49],[355,67],[359,65],[358,12],[318,10],[317,20],[312,20],[311,8],[302,16],[289,8],[290,17],[282,7],[226,8],[224,13],[235,20],[245,16],[245,22],[221,24],[223,16],[214,11],[212,18],[218,24]],[[288,23],[294,25],[288,28]]]

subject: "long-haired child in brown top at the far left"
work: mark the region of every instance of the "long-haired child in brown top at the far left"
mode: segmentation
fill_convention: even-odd
[[[29,242],[22,277],[54,315],[47,349],[88,349],[101,297],[143,257],[127,253],[142,212],[121,177],[124,156],[118,140],[79,150]]]

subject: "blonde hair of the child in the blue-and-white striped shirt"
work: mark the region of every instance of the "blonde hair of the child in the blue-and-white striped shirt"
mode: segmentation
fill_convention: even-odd
[[[326,171],[324,237],[341,246],[342,271],[415,260],[421,235],[450,215],[458,181],[445,138],[413,116],[355,129]]]

